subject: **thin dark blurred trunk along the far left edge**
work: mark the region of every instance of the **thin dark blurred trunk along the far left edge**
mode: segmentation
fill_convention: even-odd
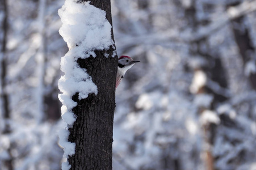
[[[6,75],[7,75],[7,63],[6,63],[6,44],[7,44],[7,30],[8,30],[8,23],[7,23],[7,16],[8,16],[8,10],[7,10],[7,1],[3,0],[0,1],[0,11],[3,12],[3,20],[1,20],[1,34],[0,35],[0,45],[1,45],[1,100],[2,100],[2,112],[3,112],[3,122],[5,122],[4,129],[2,130],[3,134],[9,134],[11,133],[10,125],[7,124],[7,120],[10,118],[10,110],[9,110],[9,97],[6,93]],[[12,144],[11,144],[12,145]],[[5,168],[12,170],[14,169],[12,166],[12,156],[11,156],[11,148],[7,148],[7,152],[10,156],[9,159],[3,160],[3,164],[5,165]]]

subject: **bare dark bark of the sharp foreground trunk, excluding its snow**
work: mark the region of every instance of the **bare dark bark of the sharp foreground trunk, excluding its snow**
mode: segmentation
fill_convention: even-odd
[[[106,18],[112,25],[110,0],[93,0],[90,4],[106,11]],[[73,96],[78,105],[73,108],[77,120],[73,128],[69,128],[69,141],[76,145],[75,154],[68,158],[70,169],[112,169],[117,56],[106,58],[104,53],[112,56],[114,51],[110,47],[108,50],[94,51],[95,58],[90,56],[77,60],[79,66],[92,77],[98,94],[90,94],[82,100],[78,100],[78,94]]]

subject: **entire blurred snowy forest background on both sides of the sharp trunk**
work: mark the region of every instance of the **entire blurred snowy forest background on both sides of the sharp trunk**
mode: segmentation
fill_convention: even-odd
[[[63,4],[0,1],[0,169],[61,168]],[[256,169],[256,1],[111,6],[117,54],[141,61],[116,90],[113,169]]]

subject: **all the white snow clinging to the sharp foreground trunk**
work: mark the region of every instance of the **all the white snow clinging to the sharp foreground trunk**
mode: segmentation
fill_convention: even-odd
[[[61,58],[61,71],[65,74],[58,81],[62,94],[58,95],[61,103],[61,117],[67,127],[72,127],[76,120],[72,109],[77,105],[72,96],[79,94],[79,100],[89,94],[98,94],[96,85],[86,69],[79,67],[78,58],[96,57],[94,50],[114,48],[111,37],[111,24],[106,19],[106,12],[90,5],[90,2],[77,3],[66,0],[58,10],[62,26],[60,35],[66,41],[69,52]],[[108,57],[106,54],[105,57]],[[114,56],[112,56],[114,57]],[[60,131],[60,145],[64,147],[64,157],[75,153],[75,143],[68,142],[68,128]],[[62,169],[69,169],[68,162],[62,163]]]

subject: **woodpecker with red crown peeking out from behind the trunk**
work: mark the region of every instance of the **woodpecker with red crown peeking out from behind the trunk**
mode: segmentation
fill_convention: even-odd
[[[131,69],[133,65],[135,65],[136,62],[140,61],[134,61],[131,57],[128,56],[121,56],[118,59],[118,69],[117,69],[117,75],[116,75],[116,88],[121,83],[121,80],[124,78],[124,74],[128,69]]]

